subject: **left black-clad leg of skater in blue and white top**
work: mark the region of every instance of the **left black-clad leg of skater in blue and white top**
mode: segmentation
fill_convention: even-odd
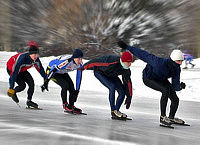
[[[55,74],[53,78],[56,80],[56,84],[61,87],[61,98],[63,104],[67,103],[67,90],[69,89],[67,81],[64,79],[63,74]]]

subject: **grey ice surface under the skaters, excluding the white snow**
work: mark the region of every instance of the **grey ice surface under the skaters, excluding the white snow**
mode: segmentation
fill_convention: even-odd
[[[199,102],[181,101],[177,116],[188,126],[175,129],[159,126],[159,99],[135,97],[130,110],[121,107],[132,121],[110,118],[107,93],[82,91],[77,107],[88,115],[63,112],[59,88],[40,93],[37,86],[33,101],[43,110],[26,109],[26,92],[19,93],[19,108],[0,82],[0,141],[2,145],[199,145]]]

